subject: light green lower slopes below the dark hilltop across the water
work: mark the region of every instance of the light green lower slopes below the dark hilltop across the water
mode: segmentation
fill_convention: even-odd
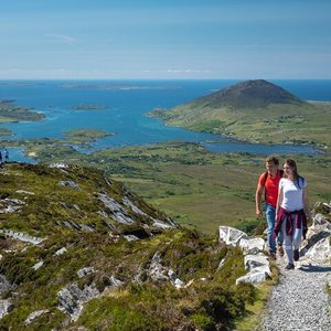
[[[269,105],[264,109],[214,108],[199,103],[157,113],[167,124],[228,135],[239,140],[313,142],[331,147],[331,104]]]

